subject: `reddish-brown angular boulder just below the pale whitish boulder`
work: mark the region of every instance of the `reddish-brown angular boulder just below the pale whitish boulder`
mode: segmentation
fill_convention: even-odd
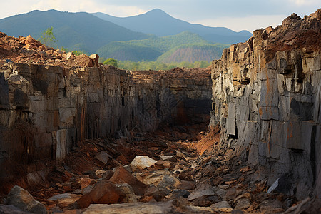
[[[133,188],[136,195],[144,195],[147,185],[135,178],[131,173],[128,172],[123,166],[119,166],[113,173],[111,179],[113,183],[121,184],[128,183]]]

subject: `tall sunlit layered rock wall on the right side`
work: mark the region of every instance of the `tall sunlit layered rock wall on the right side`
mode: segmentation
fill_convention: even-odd
[[[213,61],[211,125],[221,148],[264,167],[280,191],[321,197],[321,10],[254,31]],[[254,179],[254,178],[253,178]]]

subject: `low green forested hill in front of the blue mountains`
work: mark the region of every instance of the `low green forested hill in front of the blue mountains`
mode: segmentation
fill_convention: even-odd
[[[174,36],[153,36],[143,40],[113,41],[98,49],[98,54],[105,58],[121,61],[162,61],[175,62],[212,61],[220,58],[227,45],[212,44],[198,34],[184,31]],[[183,51],[183,49],[188,51]],[[178,54],[178,52],[180,54]],[[179,55],[179,56],[178,56]]]

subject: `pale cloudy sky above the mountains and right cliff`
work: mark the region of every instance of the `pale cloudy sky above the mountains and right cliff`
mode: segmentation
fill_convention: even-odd
[[[126,17],[156,8],[190,23],[253,32],[275,27],[292,13],[309,15],[321,8],[321,0],[10,0],[0,2],[0,19],[36,9]]]

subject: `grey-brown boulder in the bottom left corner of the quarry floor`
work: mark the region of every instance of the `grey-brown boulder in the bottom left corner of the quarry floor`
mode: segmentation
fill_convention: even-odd
[[[47,213],[45,206],[35,200],[27,190],[15,185],[8,194],[8,205],[14,205],[16,208],[30,213]]]

